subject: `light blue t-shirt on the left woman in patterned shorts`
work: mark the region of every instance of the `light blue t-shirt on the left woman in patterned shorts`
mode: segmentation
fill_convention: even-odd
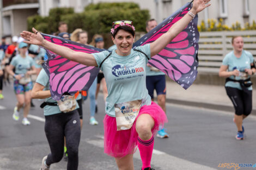
[[[32,66],[35,66],[31,56],[26,55],[26,58],[23,58],[20,54],[16,55],[10,64],[15,67],[15,74],[26,74]]]

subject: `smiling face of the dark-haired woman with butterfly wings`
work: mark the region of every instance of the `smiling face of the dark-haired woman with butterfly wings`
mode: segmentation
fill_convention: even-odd
[[[129,55],[131,53],[132,44],[134,41],[134,37],[131,33],[126,32],[123,29],[120,29],[115,38],[112,36],[112,40],[115,45],[117,45],[117,54],[118,55]]]

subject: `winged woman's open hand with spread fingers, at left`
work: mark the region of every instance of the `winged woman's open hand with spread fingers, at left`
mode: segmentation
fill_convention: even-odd
[[[32,28],[34,33],[23,31],[21,33],[21,37],[27,41],[24,41],[26,43],[32,43],[33,45],[42,45],[42,42],[44,41],[44,37],[35,29]]]

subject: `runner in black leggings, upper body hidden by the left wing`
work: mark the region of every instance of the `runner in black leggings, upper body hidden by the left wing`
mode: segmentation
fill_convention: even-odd
[[[60,103],[53,100],[49,90],[49,77],[42,69],[36,79],[31,96],[33,98],[45,99],[41,104],[44,108],[45,135],[48,140],[51,152],[42,159],[40,170],[48,170],[52,163],[59,162],[64,153],[64,137],[68,150],[67,170],[78,168],[78,146],[80,143],[81,127],[79,123],[78,104],[74,98],[69,100],[68,111],[60,111]],[[70,96],[71,97],[71,96]],[[63,101],[59,100],[60,102]],[[69,104],[68,104],[69,105]]]

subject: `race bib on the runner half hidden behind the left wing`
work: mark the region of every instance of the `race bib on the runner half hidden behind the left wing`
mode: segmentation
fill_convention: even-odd
[[[57,101],[59,110],[66,113],[76,109],[75,96],[63,95],[60,100]]]

